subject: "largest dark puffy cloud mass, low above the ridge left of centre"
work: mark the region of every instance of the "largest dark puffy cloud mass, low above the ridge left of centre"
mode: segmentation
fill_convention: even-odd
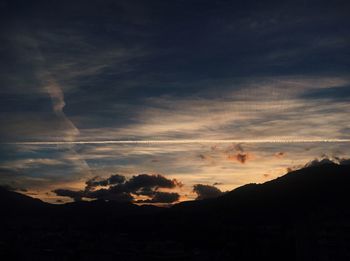
[[[106,188],[95,189],[98,186]],[[74,201],[83,198],[113,200],[119,202],[138,203],[173,203],[178,201],[180,195],[173,192],[160,192],[159,188],[173,189],[182,184],[176,179],[168,179],[162,175],[140,174],[127,180],[124,176],[116,174],[109,178],[94,177],[86,181],[84,190],[73,191],[56,189],[53,192],[58,196],[70,197]],[[136,200],[136,196],[147,196],[146,200]]]

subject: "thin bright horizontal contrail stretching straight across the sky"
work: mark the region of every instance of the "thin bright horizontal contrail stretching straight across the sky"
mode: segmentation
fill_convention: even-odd
[[[23,141],[4,142],[13,145],[64,144],[196,144],[196,143],[347,143],[350,139],[181,139],[181,140],[94,140],[94,141]]]

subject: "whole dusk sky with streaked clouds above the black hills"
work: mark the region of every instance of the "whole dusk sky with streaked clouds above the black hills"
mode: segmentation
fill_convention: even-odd
[[[349,157],[348,1],[0,10],[3,186],[168,204]]]

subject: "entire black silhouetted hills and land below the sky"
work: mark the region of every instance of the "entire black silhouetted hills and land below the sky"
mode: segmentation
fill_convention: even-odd
[[[350,165],[328,162],[171,208],[0,189],[0,258],[350,260],[349,188]]]

